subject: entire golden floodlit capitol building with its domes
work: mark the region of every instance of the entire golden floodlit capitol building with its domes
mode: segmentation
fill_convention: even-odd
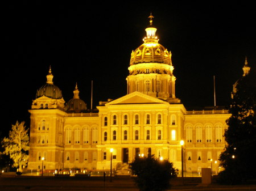
[[[156,28],[146,28],[144,43],[131,53],[127,95],[101,101],[98,113],[86,113],[76,85],[67,104],[53,84],[51,69],[30,109],[28,169],[110,169],[121,173],[136,155],[168,159],[185,172],[201,172],[224,150],[226,109],[187,111],[175,96],[171,52],[158,43]],[[212,164],[215,168],[218,164]]]

